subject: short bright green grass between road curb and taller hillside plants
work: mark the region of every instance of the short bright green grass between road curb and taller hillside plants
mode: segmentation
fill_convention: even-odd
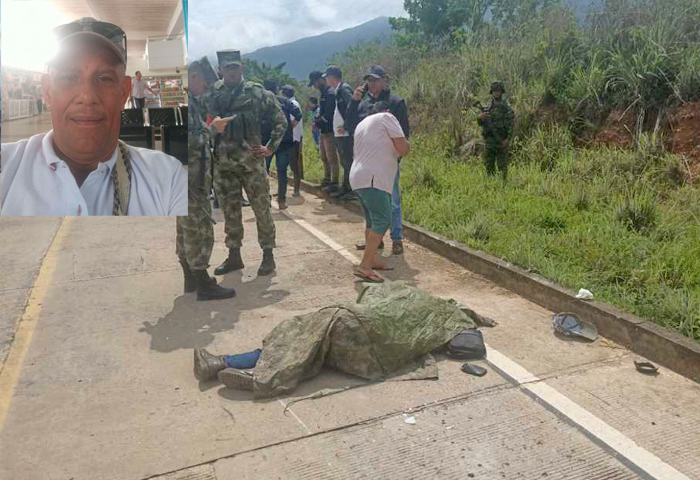
[[[673,181],[672,156],[574,150],[549,133],[523,143],[506,184],[435,136],[412,139],[405,220],[700,340],[700,190]],[[306,179],[319,182],[306,138]]]

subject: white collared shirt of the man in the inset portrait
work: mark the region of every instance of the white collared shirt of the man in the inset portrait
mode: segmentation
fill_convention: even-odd
[[[131,196],[128,215],[187,215],[187,171],[175,158],[129,146]],[[2,144],[2,215],[112,215],[112,157],[90,172],[82,186],[53,149],[53,130]]]

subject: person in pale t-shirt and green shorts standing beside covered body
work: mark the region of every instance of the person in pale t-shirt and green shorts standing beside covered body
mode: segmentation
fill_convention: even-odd
[[[399,121],[389,113],[388,102],[375,103],[372,113],[357,125],[354,150],[350,186],[360,198],[366,223],[366,248],[354,273],[365,281],[382,282],[372,270],[390,269],[376,258],[376,253],[391,226],[397,160],[410,150]]]

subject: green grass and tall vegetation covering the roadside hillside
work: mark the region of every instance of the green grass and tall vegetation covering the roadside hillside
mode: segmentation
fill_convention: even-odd
[[[384,65],[408,101],[405,219],[700,340],[700,189],[667,149],[670,112],[700,100],[700,2],[608,0],[583,24],[557,2],[530,3],[467,15],[442,37],[404,25],[390,46],[332,60],[353,85]],[[486,177],[476,113],[463,110],[495,79],[516,110],[506,185]],[[634,120],[631,144],[591,146],[613,111]]]

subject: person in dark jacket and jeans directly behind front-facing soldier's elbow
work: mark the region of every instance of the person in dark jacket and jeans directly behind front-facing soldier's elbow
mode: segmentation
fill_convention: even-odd
[[[277,167],[277,203],[280,210],[287,208],[287,168],[292,159],[292,148],[294,147],[294,128],[301,121],[301,109],[294,105],[287,97],[278,95],[277,81],[274,79],[265,80],[264,87],[274,93],[280,108],[287,118],[287,129],[282,137],[279,147],[275,150],[275,166]],[[267,123],[263,123],[263,143],[269,139]],[[271,130],[271,129],[270,129]],[[269,157],[270,160],[272,157]],[[267,163],[267,173],[270,174],[270,162]]]

